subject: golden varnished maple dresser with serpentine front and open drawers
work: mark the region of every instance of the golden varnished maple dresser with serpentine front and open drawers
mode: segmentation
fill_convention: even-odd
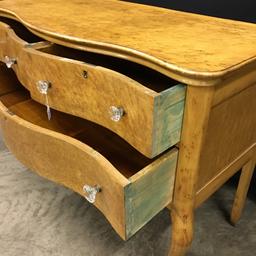
[[[4,141],[123,239],[168,207],[184,255],[196,207],[255,164],[255,42],[253,24],[117,0],[2,0]]]

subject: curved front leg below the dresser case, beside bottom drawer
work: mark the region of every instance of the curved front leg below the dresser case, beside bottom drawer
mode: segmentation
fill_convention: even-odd
[[[175,209],[171,211],[172,240],[169,256],[186,255],[193,240],[193,213],[179,215]]]

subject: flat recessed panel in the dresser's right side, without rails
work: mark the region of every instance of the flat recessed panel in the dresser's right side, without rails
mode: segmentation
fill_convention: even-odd
[[[213,107],[201,157],[198,190],[256,142],[255,98],[256,84],[247,84],[246,89]]]

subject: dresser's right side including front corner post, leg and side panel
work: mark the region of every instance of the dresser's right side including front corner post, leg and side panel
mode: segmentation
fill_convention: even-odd
[[[255,161],[254,72],[253,68],[241,70],[210,91],[188,86],[175,191],[169,206],[172,256],[185,255],[192,241],[195,208],[246,163]],[[243,207],[250,171],[242,176],[235,211]]]

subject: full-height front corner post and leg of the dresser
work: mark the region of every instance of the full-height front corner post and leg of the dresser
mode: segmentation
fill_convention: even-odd
[[[213,88],[202,89],[190,86],[187,88],[171,204],[172,241],[169,256],[185,255],[193,240],[198,171],[212,97]]]

